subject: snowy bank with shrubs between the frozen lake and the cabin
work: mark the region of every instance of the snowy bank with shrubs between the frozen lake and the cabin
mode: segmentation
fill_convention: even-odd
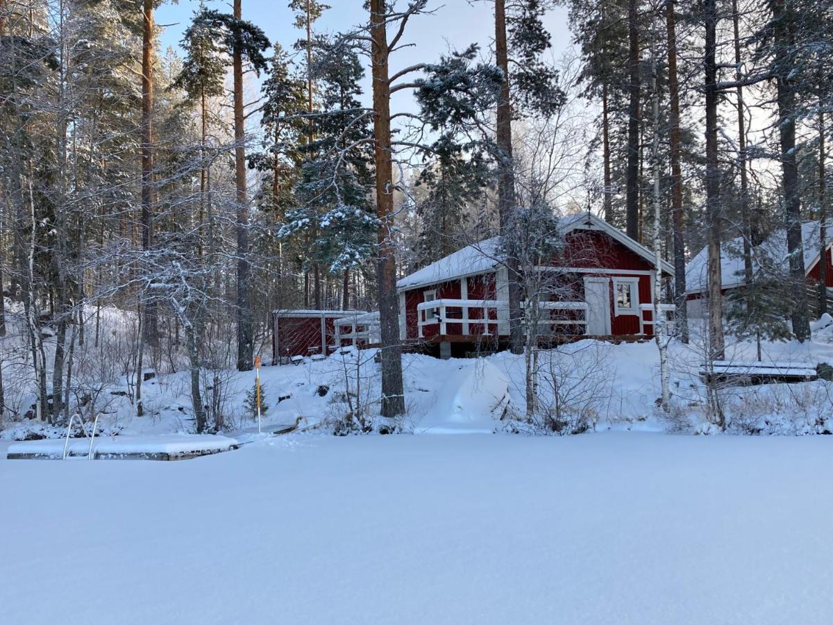
[[[176,373],[170,373],[174,367],[162,358],[155,377],[142,383],[145,415],[137,417],[132,400],[135,373],[125,375],[133,371],[130,356],[135,351],[130,348],[130,314],[113,308],[102,313],[102,327],[106,329],[102,332],[102,344],[94,348],[87,341],[85,348],[77,352],[78,363],[73,369],[77,386],[74,398],[92,398],[83,405],[85,418],[92,421],[94,414],[100,415],[99,431],[105,436],[194,433],[190,381],[181,362],[177,363]],[[656,408],[661,394],[656,344],[614,345],[591,340],[541,352],[536,393],[539,418],[551,418],[557,407],[561,414],[554,420],[565,422],[562,432],[568,433],[587,429],[696,431],[706,418],[706,392],[698,376],[706,353],[701,330],[698,322],[692,320],[691,345],[671,343],[670,419],[661,418]],[[47,351],[51,344],[47,342]],[[7,350],[2,358],[6,405],[22,415],[35,400],[32,366],[20,340],[6,338],[0,348]],[[813,340],[806,343],[763,343],[761,356],[765,363],[833,365],[833,318],[827,316],[814,323]],[[308,427],[343,418],[356,412],[357,399],[363,413],[378,414],[380,378],[372,357],[372,350],[366,350],[262,368],[264,397],[269,406],[263,414],[263,427],[280,429],[279,426],[295,424],[299,419],[302,427]],[[357,358],[362,363],[358,369]],[[756,346],[730,337],[726,359],[735,363],[754,361]],[[47,362],[52,361],[47,357]],[[526,413],[523,357],[497,353],[477,360],[443,361],[405,354],[403,371],[407,417],[402,428],[406,432],[526,431],[522,423],[512,422]],[[213,376],[214,373],[206,372],[202,380],[205,402],[213,393],[208,389],[215,387]],[[47,378],[52,379],[51,373]],[[257,424],[244,401],[247,392],[252,392],[254,372],[219,371],[217,381],[217,388],[222,389],[224,418],[217,429],[246,440],[257,432]],[[833,431],[831,382],[726,388],[721,391],[721,402],[730,432]],[[0,423],[0,439],[61,438],[65,432],[65,426],[50,428],[19,416]],[[77,434],[81,434],[80,429]]]

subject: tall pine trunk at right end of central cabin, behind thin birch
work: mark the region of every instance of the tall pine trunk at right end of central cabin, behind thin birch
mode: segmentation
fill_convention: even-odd
[[[674,303],[676,305],[677,335],[688,343],[688,312],[686,310],[686,241],[683,238],[682,170],[680,167],[680,85],[676,68],[676,15],[674,1],[666,2],[666,30],[668,32],[668,133],[671,152],[671,221],[674,237]]]

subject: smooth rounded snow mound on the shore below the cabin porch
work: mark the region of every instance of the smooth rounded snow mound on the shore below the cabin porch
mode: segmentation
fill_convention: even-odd
[[[421,433],[492,433],[509,403],[509,379],[492,363],[461,364],[436,393],[416,427]]]

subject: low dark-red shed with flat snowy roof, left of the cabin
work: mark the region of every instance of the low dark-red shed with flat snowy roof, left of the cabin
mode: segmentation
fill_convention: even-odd
[[[272,362],[294,356],[326,356],[337,348],[336,320],[366,314],[343,310],[272,312]]]

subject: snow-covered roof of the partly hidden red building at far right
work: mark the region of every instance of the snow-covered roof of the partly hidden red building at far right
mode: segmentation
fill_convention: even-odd
[[[820,245],[819,222],[801,224],[801,240],[804,255],[804,268],[807,272],[819,259]],[[833,243],[833,223],[826,226],[826,248]],[[686,293],[701,293],[706,290],[706,271],[708,248],[703,248],[686,265]],[[785,273],[789,269],[789,254],[786,248],[786,230],[778,229],[770,234],[761,245],[752,250],[752,266],[761,268],[781,268]],[[743,286],[743,238],[736,237],[721,244],[721,283],[722,288]]]

